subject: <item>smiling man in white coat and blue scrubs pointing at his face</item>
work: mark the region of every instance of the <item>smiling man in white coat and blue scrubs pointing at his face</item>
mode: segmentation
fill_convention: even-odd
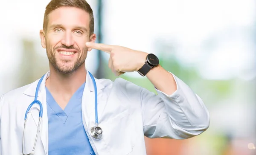
[[[47,5],[40,37],[49,72],[41,84],[37,80],[1,96],[1,155],[145,155],[144,135],[185,139],[207,130],[203,101],[156,56],[96,44],[93,29],[93,11],[85,0]],[[94,85],[85,67],[92,49],[110,54],[109,68],[117,76],[134,71],[146,76],[158,95],[120,78],[95,79]],[[34,100],[42,106],[33,104],[25,116]],[[43,110],[41,119],[36,109]],[[97,123],[101,128],[93,128]]]

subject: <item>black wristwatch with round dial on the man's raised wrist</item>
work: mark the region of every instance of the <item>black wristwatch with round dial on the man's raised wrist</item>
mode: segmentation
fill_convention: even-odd
[[[159,65],[159,59],[154,54],[148,54],[146,57],[145,64],[138,70],[141,76],[145,76],[149,70]]]

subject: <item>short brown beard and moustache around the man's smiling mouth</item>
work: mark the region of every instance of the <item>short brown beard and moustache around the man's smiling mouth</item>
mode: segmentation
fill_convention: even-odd
[[[76,62],[74,62],[73,64],[71,64],[72,62],[70,60],[57,61],[57,59],[55,57],[55,53],[57,52],[58,48],[75,49],[76,51],[78,51],[78,53],[80,53],[81,51],[78,48],[75,48],[74,46],[67,47],[65,45],[61,45],[61,46],[54,48],[53,50],[46,47],[47,57],[49,59],[49,62],[55,69],[55,71],[57,71],[58,73],[61,73],[63,75],[73,74],[84,63],[85,58],[84,59],[82,59],[82,57],[78,58],[76,60]]]

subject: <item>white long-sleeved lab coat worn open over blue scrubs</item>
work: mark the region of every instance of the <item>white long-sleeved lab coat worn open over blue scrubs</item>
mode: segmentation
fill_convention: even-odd
[[[89,75],[87,73],[87,75]],[[48,154],[48,118],[44,76],[38,92],[43,104],[43,118],[35,147],[35,155]],[[95,126],[94,87],[86,78],[82,98],[82,120],[90,144],[96,155],[146,155],[144,135],[149,138],[185,139],[199,135],[209,127],[209,112],[203,101],[175,75],[177,90],[168,96],[158,95],[118,78],[95,79],[98,91],[99,127],[102,139],[94,140],[89,134]],[[20,155],[24,116],[35,98],[38,81],[12,90],[0,98],[0,155]],[[38,124],[38,104],[28,115],[24,153],[30,153]]]

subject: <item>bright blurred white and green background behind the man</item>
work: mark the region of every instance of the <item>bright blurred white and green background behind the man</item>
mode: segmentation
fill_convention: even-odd
[[[39,30],[50,0],[0,5],[0,94],[39,79],[48,68]],[[148,139],[148,155],[256,155],[255,0],[87,0],[100,43],[156,54],[206,104],[210,127],[187,140]],[[86,66],[114,80],[108,54]],[[138,73],[121,76],[154,92]]]

